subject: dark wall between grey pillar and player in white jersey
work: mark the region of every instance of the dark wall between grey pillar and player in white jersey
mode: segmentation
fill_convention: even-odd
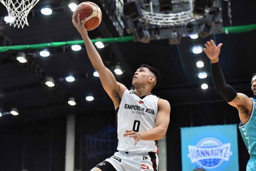
[[[113,107],[114,108],[114,107]],[[111,157],[117,148],[115,111],[95,111],[76,116],[75,168],[90,170]]]

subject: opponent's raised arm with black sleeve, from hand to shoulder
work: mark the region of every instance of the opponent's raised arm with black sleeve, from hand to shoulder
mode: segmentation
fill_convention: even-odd
[[[237,93],[225,82],[218,60],[221,46],[222,43],[216,46],[214,41],[210,40],[210,42],[208,41],[207,44],[205,44],[206,49],[203,49],[203,51],[205,51],[207,57],[211,60],[211,75],[216,91],[228,104],[238,109],[240,120],[242,124],[244,124],[250,117],[253,102],[246,95]]]

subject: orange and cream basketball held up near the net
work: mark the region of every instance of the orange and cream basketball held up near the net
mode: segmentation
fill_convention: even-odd
[[[83,22],[85,17],[87,17],[85,22],[85,28],[87,31],[97,28],[100,25],[100,22],[102,21],[102,12],[99,6],[97,6],[93,2],[86,1],[82,2],[77,6],[73,13],[76,21],[77,14],[80,15],[81,23]]]

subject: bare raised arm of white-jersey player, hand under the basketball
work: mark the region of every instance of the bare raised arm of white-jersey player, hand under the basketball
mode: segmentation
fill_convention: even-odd
[[[126,89],[124,85],[118,83],[115,80],[114,75],[112,72],[105,67],[103,64],[102,58],[100,57],[99,53],[93,46],[86,28],[84,27],[86,18],[83,20],[83,23],[80,22],[80,16],[78,14],[77,21],[75,21],[74,16],[72,17],[72,22],[74,26],[77,28],[78,32],[80,33],[82,39],[85,42],[86,51],[88,53],[89,59],[95,68],[95,70],[99,73],[100,81],[102,82],[104,90],[113,100],[115,108],[119,106],[122,94]]]

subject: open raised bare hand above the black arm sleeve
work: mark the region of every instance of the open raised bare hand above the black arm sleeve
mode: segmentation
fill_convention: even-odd
[[[220,48],[222,46],[222,43],[216,44],[214,43],[213,40],[207,41],[205,44],[206,49],[204,48],[203,51],[205,51],[207,57],[211,60],[212,63],[215,63],[218,61],[218,56],[220,54]]]

